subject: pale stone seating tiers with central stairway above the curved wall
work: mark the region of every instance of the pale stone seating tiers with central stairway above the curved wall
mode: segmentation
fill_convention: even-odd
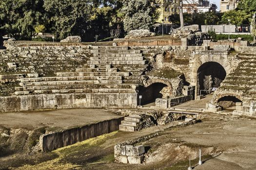
[[[57,72],[56,77],[20,78],[15,95],[60,93],[136,93],[136,84],[124,84],[131,76],[115,66],[146,64],[140,50],[128,47],[91,47],[93,57],[89,68],[77,68],[76,72]]]

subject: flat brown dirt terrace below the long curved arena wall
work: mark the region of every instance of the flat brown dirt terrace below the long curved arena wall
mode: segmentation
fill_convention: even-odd
[[[66,129],[118,118],[117,114],[103,109],[61,109],[0,113],[0,125],[6,128],[33,130],[40,127],[59,127]]]

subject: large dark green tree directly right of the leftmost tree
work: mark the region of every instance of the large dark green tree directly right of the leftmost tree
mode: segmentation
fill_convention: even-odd
[[[83,36],[90,29],[90,17],[99,6],[98,0],[44,0],[51,30],[57,38]]]

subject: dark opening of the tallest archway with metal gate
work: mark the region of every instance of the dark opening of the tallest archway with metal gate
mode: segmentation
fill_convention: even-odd
[[[210,90],[220,86],[227,73],[217,62],[206,62],[197,69],[197,95],[209,94]]]

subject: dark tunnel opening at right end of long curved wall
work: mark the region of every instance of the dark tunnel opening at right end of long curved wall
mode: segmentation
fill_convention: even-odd
[[[140,86],[138,96],[142,96],[140,105],[149,104],[155,102],[157,98],[162,98],[163,95],[160,91],[167,87],[167,85],[162,83],[154,83],[148,87]],[[139,99],[138,99],[139,105]]]

